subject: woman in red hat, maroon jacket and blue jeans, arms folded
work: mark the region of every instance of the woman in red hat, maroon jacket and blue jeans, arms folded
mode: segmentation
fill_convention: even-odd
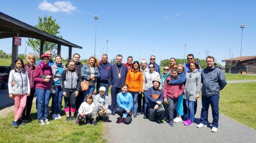
[[[47,119],[50,100],[52,68],[49,66],[49,56],[41,55],[41,63],[35,68],[33,80],[37,95],[37,119],[40,125],[50,124]]]

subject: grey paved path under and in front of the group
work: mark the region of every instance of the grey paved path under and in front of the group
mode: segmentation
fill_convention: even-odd
[[[109,96],[111,98],[111,96]],[[111,99],[110,99],[111,100]],[[211,124],[205,128],[197,128],[200,123],[202,103],[198,100],[196,121],[193,126],[184,126],[182,122],[170,127],[143,119],[143,115],[133,118],[130,125],[117,124],[118,115],[111,115],[112,122],[106,123],[108,128],[105,138],[110,142],[256,142],[256,130],[220,115],[218,132],[211,132]],[[209,110],[209,121],[212,121]]]

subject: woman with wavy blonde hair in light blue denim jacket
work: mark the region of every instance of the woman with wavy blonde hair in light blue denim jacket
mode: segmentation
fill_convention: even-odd
[[[86,65],[82,66],[82,70],[81,70],[82,80],[89,81],[89,89],[83,92],[83,102],[86,101],[86,96],[89,93],[93,94],[95,90],[95,83],[100,78],[98,66],[99,66],[99,62],[94,56],[91,56],[86,62]]]

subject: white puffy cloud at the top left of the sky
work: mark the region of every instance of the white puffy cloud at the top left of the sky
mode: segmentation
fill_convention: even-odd
[[[56,1],[53,4],[48,3],[47,0],[40,3],[38,8],[42,11],[50,11],[50,12],[66,12],[70,13],[73,10],[76,10],[76,7],[71,4],[71,2],[65,1]]]

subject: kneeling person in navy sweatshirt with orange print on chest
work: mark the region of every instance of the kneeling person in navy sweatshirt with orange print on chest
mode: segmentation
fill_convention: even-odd
[[[163,124],[163,113],[164,109],[162,106],[163,103],[163,90],[159,90],[161,81],[160,79],[153,79],[153,87],[147,90],[147,98],[148,98],[148,114],[150,121],[156,121],[159,124]]]

